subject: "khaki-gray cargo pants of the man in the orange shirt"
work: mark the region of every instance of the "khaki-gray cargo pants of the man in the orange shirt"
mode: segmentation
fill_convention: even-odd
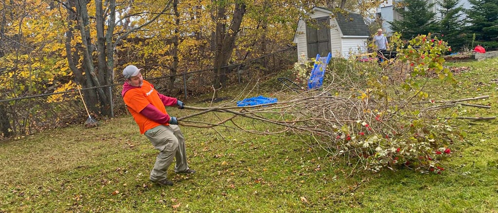
[[[177,125],[159,125],[144,133],[152,142],[155,149],[159,150],[154,168],[150,171],[150,180],[153,182],[167,179],[167,170],[176,158],[175,172],[183,172],[188,168],[185,139]]]

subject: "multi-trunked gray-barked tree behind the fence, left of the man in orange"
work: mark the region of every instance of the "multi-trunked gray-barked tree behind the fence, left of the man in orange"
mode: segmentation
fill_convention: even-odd
[[[164,13],[169,7],[171,0],[165,2],[162,10],[151,12],[145,9],[134,11],[130,4],[119,8],[123,11],[124,16],[120,17],[126,20],[129,17],[145,20],[140,24],[126,26],[121,28],[122,31],[115,32],[116,23],[116,0],[96,1],[95,8],[90,7],[87,0],[68,0],[61,2],[68,12],[68,30],[66,32],[66,54],[69,67],[73,71],[76,81],[84,87],[97,87],[96,89],[85,90],[85,101],[92,111],[100,112],[103,115],[111,115],[109,93],[101,85],[109,85],[114,79],[114,49],[116,45],[126,38],[130,33],[141,29],[147,24],[153,22]],[[104,10],[104,5],[106,9]],[[95,22],[90,18],[94,13]],[[95,9],[95,10],[94,10]],[[137,12],[137,13],[133,13]],[[139,17],[139,15],[145,14]],[[130,23],[129,23],[130,24]],[[107,28],[107,30],[106,30]],[[76,36],[73,32],[79,32]],[[73,46],[72,40],[77,40]],[[93,55],[96,51],[97,62],[94,61]],[[83,58],[83,60],[79,60]],[[95,66],[95,63],[97,66]],[[97,67],[97,69],[96,69]],[[99,108],[100,107],[100,108]]]

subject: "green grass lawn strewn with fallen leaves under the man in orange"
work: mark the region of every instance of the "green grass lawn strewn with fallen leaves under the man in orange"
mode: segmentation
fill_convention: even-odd
[[[448,65],[471,70],[459,73],[460,83],[434,98],[490,95],[474,103],[492,109],[466,108],[461,114],[495,116],[498,59]],[[149,182],[157,152],[131,116],[93,129],[75,125],[0,142],[0,213],[498,212],[497,120],[457,125],[468,137],[455,143],[439,175],[408,169],[372,173],[303,142],[182,127],[189,165],[197,172],[175,174],[171,166],[173,187]]]

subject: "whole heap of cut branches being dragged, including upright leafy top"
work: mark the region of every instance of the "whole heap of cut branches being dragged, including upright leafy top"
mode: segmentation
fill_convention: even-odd
[[[396,44],[396,39],[391,43]],[[206,108],[186,106],[199,112],[180,118],[179,123],[279,135],[306,142],[329,155],[342,157],[348,165],[372,171],[405,166],[421,172],[441,172],[444,167],[440,160],[451,156],[453,143],[465,136],[465,132],[452,125],[455,119],[451,118],[472,119],[445,113],[451,114],[448,109],[457,106],[487,108],[466,103],[487,96],[436,100],[431,93],[437,91],[428,91],[427,88],[434,88],[427,85],[438,79],[427,77],[427,71],[438,74],[441,82],[454,82],[440,57],[446,43],[426,35],[411,43],[398,44],[408,48],[397,49],[401,59],[396,63],[378,66],[333,60],[318,90],[282,90],[273,95],[278,102],[256,106],[237,107],[235,101]],[[410,48],[415,45],[417,49]],[[394,70],[399,70],[395,66],[407,65],[412,68],[402,81],[390,77]],[[198,120],[205,113],[214,113],[218,121]],[[264,123],[265,128],[246,129],[244,122],[248,120]]]

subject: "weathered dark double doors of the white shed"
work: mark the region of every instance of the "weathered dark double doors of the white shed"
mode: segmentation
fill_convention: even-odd
[[[329,17],[310,19],[306,23],[306,42],[308,58],[315,58],[316,54],[326,56],[331,52]]]

